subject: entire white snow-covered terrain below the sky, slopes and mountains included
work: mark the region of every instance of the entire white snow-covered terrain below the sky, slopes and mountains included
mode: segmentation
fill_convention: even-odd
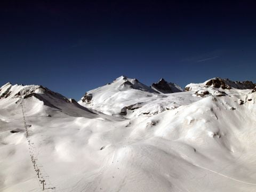
[[[77,103],[7,83],[0,191],[256,191],[253,86],[214,78],[182,92],[121,76]]]

